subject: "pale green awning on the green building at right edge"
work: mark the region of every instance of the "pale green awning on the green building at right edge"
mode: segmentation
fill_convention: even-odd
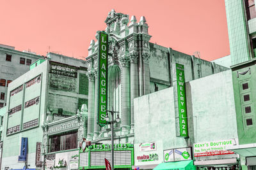
[[[244,157],[255,157],[256,156],[256,143],[227,146],[226,149],[232,150]]]

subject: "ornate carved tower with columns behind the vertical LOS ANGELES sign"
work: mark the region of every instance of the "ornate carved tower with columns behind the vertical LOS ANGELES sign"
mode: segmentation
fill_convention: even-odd
[[[149,94],[150,74],[148,59],[150,57],[148,25],[145,17],[137,22],[132,16],[108,13],[106,32],[109,36],[109,66],[108,66],[108,110],[113,107],[121,115],[121,123],[115,125],[115,132],[121,136],[134,133],[133,99]],[[96,38],[98,35],[96,34]],[[98,41],[91,41],[88,48],[88,139],[98,139],[108,136],[108,127],[100,129],[98,120]]]

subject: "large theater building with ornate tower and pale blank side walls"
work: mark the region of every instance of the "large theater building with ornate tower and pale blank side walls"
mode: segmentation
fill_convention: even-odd
[[[195,168],[194,143],[237,141],[230,69],[150,43],[145,17],[137,22],[135,16],[129,20],[128,15],[112,10],[105,23],[109,43],[108,110],[118,111],[121,119],[114,124],[114,142],[118,147],[125,143],[134,147],[134,160],[122,165],[114,161],[115,168],[161,169],[166,164],[169,169],[175,165]],[[99,39],[99,32],[95,37]],[[104,168],[104,155],[100,152],[105,151],[110,159],[111,131],[109,125],[100,127],[98,124],[99,41],[92,40],[88,51],[86,141],[91,141],[93,146],[80,150],[79,168],[100,169]],[[187,106],[180,113],[179,104],[183,106],[184,103]],[[185,109],[188,115],[183,113]],[[228,124],[224,124],[226,119],[230,120]],[[124,148],[115,150],[116,155]],[[94,157],[90,153],[93,152],[100,153],[97,166],[91,162]],[[167,152],[170,160],[172,152],[177,153],[176,156],[184,152],[188,158],[182,159],[182,156],[170,161],[168,157],[165,160],[164,153]],[[227,161],[221,164],[211,161],[221,159]],[[185,162],[179,163],[180,160]],[[204,168],[207,165],[236,168],[238,164],[235,153],[208,155],[196,162]]]

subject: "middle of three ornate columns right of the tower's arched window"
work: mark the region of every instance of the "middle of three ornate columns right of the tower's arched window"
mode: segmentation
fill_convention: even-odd
[[[138,89],[138,52],[130,53],[130,78],[131,78],[131,131],[134,133],[134,103],[133,99],[139,96]]]

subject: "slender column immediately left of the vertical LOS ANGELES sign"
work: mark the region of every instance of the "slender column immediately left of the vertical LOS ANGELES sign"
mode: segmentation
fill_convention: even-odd
[[[99,74],[95,71],[95,97],[94,97],[94,133],[93,140],[97,139],[99,136],[100,126],[98,123],[99,118]]]

